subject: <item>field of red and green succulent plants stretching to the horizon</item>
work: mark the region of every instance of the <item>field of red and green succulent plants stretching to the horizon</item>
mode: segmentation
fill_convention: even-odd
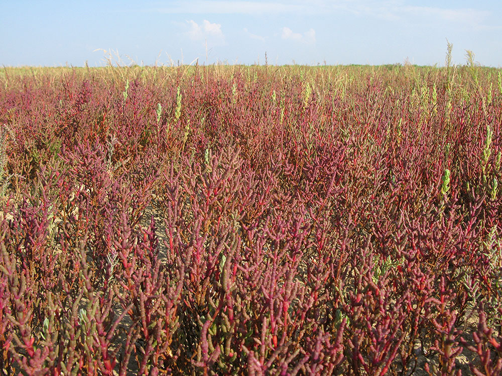
[[[500,70],[4,68],[0,126],[2,375],[502,373]]]

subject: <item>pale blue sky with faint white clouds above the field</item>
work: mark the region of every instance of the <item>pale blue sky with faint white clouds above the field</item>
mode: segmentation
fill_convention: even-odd
[[[500,0],[0,0],[0,66],[502,67]]]

